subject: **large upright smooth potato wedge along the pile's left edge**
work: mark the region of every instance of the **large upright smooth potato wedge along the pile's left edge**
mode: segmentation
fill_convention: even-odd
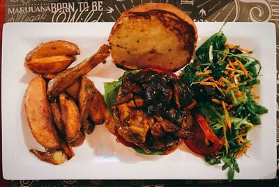
[[[51,149],[59,147],[43,77],[38,76],[30,81],[25,92],[24,107],[29,127],[38,143]]]

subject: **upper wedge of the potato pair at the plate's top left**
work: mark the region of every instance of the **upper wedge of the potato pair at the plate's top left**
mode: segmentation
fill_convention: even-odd
[[[31,58],[42,58],[45,56],[75,56],[78,54],[80,54],[80,49],[76,44],[66,40],[54,40],[39,44],[27,54],[25,60],[29,61]]]

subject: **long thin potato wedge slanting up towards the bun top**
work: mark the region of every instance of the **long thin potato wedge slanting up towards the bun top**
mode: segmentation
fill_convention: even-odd
[[[93,67],[102,63],[107,56],[110,56],[110,47],[107,44],[104,44],[96,54],[86,58],[82,63],[79,63],[75,67],[64,70],[55,76],[54,79],[50,80],[47,86],[47,95],[59,95],[59,93],[63,92],[68,86],[75,83],[77,79],[80,79],[80,77],[90,72]]]

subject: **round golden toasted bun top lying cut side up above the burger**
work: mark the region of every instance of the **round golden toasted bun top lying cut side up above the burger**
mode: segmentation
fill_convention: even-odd
[[[168,3],[144,3],[122,13],[110,33],[114,63],[125,69],[181,69],[190,62],[197,28],[182,10]]]

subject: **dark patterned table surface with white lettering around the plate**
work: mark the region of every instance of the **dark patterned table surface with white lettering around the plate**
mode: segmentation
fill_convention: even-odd
[[[6,22],[115,22],[121,13],[140,3],[171,3],[196,22],[273,22],[277,29],[279,67],[278,0],[6,0]],[[279,71],[277,71],[279,103]],[[277,105],[279,115],[279,106]],[[277,122],[279,157],[279,119]],[[277,161],[279,170],[279,159]],[[13,181],[12,186],[183,186],[225,181]]]

